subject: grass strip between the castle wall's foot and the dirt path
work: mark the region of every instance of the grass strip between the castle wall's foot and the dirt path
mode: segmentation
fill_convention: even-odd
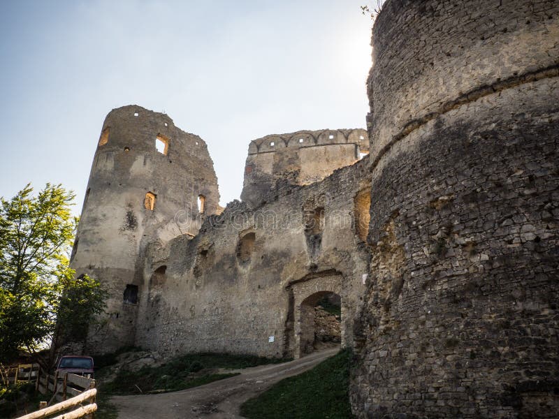
[[[217,368],[242,369],[278,362],[285,360],[219,353],[182,355],[159,367],[121,369],[113,381],[102,385],[100,391],[106,395],[137,395],[140,394],[138,387],[143,393],[184,390],[237,375],[217,374]]]

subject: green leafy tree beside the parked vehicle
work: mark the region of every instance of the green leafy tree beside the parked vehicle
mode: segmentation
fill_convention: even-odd
[[[0,360],[44,348],[55,330],[61,332],[60,307],[85,308],[87,316],[103,309],[99,284],[74,279],[68,266],[78,223],[71,214],[74,197],[51,184],[33,196],[27,184],[11,200],[0,198]],[[75,319],[83,321],[81,311]]]

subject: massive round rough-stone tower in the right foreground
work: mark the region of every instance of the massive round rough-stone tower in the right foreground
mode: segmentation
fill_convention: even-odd
[[[359,418],[559,411],[559,2],[388,0],[373,28]]]

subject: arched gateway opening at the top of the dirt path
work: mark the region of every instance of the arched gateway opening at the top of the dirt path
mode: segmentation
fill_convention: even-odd
[[[342,341],[342,298],[331,291],[319,291],[300,304],[301,356],[339,346]]]

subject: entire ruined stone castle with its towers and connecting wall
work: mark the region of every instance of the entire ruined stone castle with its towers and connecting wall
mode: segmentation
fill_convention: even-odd
[[[358,418],[557,418],[558,20],[386,1],[368,130],[250,142],[224,209],[201,138],[112,110],[71,258],[110,291],[90,350],[297,358],[335,294]]]

